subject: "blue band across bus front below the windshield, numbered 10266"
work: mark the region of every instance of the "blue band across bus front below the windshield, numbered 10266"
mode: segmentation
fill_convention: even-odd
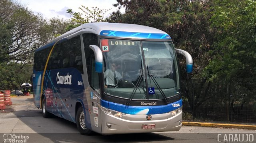
[[[182,99],[171,104],[160,106],[126,106],[123,104],[117,104],[114,102],[108,102],[101,100],[101,106],[131,115],[148,115],[148,114],[164,114],[176,110],[182,106]],[[109,106],[109,107],[108,107]]]

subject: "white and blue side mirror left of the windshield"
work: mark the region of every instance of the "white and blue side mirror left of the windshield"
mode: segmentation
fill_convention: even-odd
[[[102,72],[103,55],[100,48],[96,45],[89,45],[90,49],[94,52],[95,58],[95,71],[98,73]]]

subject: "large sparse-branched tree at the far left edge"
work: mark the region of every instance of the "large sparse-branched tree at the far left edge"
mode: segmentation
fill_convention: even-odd
[[[34,50],[44,44],[44,20],[11,0],[0,1],[0,90],[28,82]]]

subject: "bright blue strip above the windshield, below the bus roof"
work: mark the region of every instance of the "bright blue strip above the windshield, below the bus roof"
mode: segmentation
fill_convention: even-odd
[[[133,37],[146,39],[171,39],[166,33],[139,33],[139,32],[125,32],[125,31],[109,31],[102,30],[100,35],[110,37]]]

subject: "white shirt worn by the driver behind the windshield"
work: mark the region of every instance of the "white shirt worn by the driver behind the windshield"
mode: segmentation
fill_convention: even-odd
[[[122,78],[122,75],[118,71],[112,71],[110,69],[107,69],[104,72],[104,78],[106,78],[106,85],[115,85],[115,80],[114,80],[114,72],[116,73],[116,81],[120,80]]]

